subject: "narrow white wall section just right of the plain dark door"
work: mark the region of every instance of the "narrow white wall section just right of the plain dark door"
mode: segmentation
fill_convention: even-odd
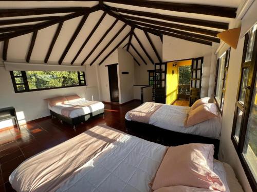
[[[134,60],[133,57],[122,48],[118,48],[119,79],[120,79],[120,103],[134,99]],[[128,74],[122,74],[128,72]]]

